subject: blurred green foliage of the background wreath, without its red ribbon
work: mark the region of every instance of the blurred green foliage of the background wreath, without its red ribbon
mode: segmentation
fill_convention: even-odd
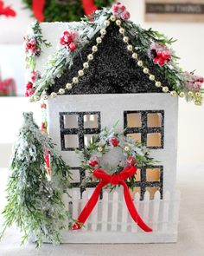
[[[22,0],[22,2],[32,10],[32,0]],[[81,1],[64,2],[66,3],[60,3],[57,0],[46,0],[45,22],[76,22],[80,21],[80,18],[85,15]],[[113,0],[95,0],[94,3],[101,9],[104,6],[110,6]]]

